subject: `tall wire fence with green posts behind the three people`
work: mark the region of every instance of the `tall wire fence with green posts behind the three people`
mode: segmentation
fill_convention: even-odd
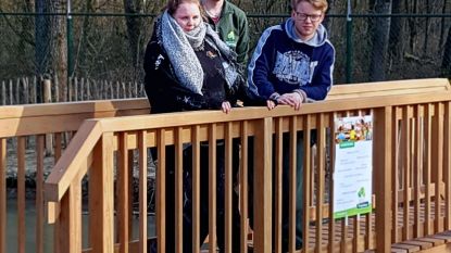
[[[89,84],[100,93],[136,89],[134,96],[142,97],[142,58],[154,18],[154,14],[0,13],[0,96],[36,78],[52,80],[57,87],[52,101],[72,101],[68,91],[75,79],[83,78],[92,80]],[[263,30],[286,18],[249,14],[250,54]],[[336,84],[451,77],[451,14],[328,15],[324,24],[336,48]],[[128,88],[130,84],[137,88]],[[30,101],[41,102],[42,84],[28,81],[33,85],[37,99]],[[121,98],[110,93],[96,98]],[[2,101],[10,104],[14,99]]]

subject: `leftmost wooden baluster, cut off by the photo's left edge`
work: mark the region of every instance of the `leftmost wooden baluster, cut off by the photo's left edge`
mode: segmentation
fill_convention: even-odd
[[[7,139],[0,138],[0,252],[7,251]]]

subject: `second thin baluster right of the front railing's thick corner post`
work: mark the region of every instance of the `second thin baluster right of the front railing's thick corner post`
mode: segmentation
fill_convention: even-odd
[[[147,253],[147,131],[139,131],[139,253]]]

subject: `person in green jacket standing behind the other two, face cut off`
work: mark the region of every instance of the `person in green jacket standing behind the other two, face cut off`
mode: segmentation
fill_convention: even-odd
[[[202,0],[208,22],[237,53],[237,62],[246,68],[249,51],[249,26],[246,13],[227,0]]]

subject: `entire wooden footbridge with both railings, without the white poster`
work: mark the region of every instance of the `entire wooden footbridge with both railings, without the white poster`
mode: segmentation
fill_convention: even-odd
[[[199,220],[209,220],[208,251],[216,252],[215,212],[200,217],[200,143],[226,150],[226,252],[231,249],[231,143],[241,140],[240,211],[241,252],[272,252],[273,240],[281,243],[281,136],[304,139],[302,252],[451,252],[451,87],[447,79],[416,79],[336,86],[325,101],[304,104],[299,112],[288,106],[235,109],[151,115],[145,99],[88,101],[23,106],[0,106],[0,252],[15,243],[17,252],[43,252],[45,226],[53,228],[52,252],[147,252],[148,150],[159,152],[156,169],[155,233],[164,245],[165,231],[176,236],[180,252],[181,211],[176,226],[165,226],[165,147],[176,149],[176,206],[181,206],[181,152],[193,150],[193,241],[199,241]],[[373,115],[373,203],[369,214],[334,219],[333,177],[335,161],[334,119],[337,116]],[[315,129],[316,146],[310,132]],[[46,178],[46,143],[53,140],[55,165]],[[254,154],[248,153],[252,137]],[[25,163],[34,140],[36,163]],[[274,142],[274,150],[273,150]],[[14,143],[14,144],[12,144]],[[47,144],[48,146],[48,144]],[[7,150],[14,147],[16,167],[10,167]],[[47,147],[48,148],[48,147]],[[272,154],[275,160],[272,160]],[[291,143],[290,152],[296,152]],[[210,149],[211,157],[216,150]],[[248,207],[248,163],[253,159],[254,208]],[[291,167],[296,164],[292,157]],[[273,175],[273,164],[275,174]],[[14,166],[14,165],[13,165]],[[7,241],[8,169],[17,170],[16,241]],[[25,213],[25,170],[36,172],[37,217],[30,225]],[[215,178],[214,160],[210,178]],[[296,169],[290,170],[296,178]],[[134,175],[135,174],[135,175]],[[139,228],[133,236],[131,180],[139,178]],[[273,177],[276,179],[272,187]],[[88,192],[82,190],[88,184]],[[291,186],[295,184],[291,182]],[[210,180],[209,189],[215,189]],[[210,210],[216,195],[210,190]],[[272,195],[276,199],[273,202]],[[291,187],[290,220],[295,224],[295,188]],[[284,200],[287,201],[287,200]],[[88,206],[85,212],[83,206]],[[272,210],[274,206],[274,211]],[[180,208],[177,208],[180,210]],[[253,230],[248,214],[253,212]],[[88,218],[84,227],[82,217]],[[272,218],[275,217],[275,224]],[[50,224],[50,225],[47,225]],[[290,227],[290,252],[295,251],[295,226]],[[35,248],[25,249],[25,230],[35,230]],[[251,235],[251,236],[249,236]],[[193,252],[200,249],[193,246]],[[159,252],[165,252],[164,246]],[[279,250],[276,252],[280,252]]]

